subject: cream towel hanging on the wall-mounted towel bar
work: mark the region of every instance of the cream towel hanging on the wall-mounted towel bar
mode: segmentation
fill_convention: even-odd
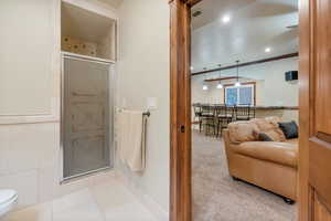
[[[132,171],[146,167],[146,116],[142,112],[118,113],[118,151],[120,159]]]

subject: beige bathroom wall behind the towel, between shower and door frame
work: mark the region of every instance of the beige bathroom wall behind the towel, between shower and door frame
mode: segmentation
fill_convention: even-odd
[[[146,109],[156,97],[147,134],[147,169],[125,175],[169,211],[169,6],[164,0],[126,0],[119,9],[118,106]],[[124,99],[126,102],[124,102]]]

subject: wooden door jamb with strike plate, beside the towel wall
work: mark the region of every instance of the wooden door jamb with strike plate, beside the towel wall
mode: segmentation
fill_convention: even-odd
[[[192,220],[191,7],[170,0],[170,221]]]

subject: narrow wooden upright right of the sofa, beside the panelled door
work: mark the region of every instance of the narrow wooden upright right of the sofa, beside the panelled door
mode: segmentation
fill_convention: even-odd
[[[299,50],[299,220],[311,220],[311,189],[309,188],[309,137],[313,133],[313,4],[314,0],[300,0],[300,50]]]

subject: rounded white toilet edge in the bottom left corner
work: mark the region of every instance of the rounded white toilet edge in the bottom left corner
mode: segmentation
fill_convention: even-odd
[[[11,211],[18,202],[18,192],[10,189],[0,189],[0,220]]]

